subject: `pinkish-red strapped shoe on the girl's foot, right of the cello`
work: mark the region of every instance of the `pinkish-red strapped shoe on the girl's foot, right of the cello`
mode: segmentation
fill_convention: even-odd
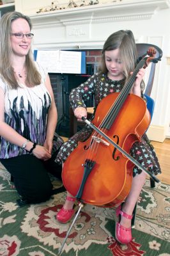
[[[133,218],[132,215],[129,215],[129,214],[121,211],[121,205],[119,205],[119,207],[116,209],[116,216],[118,217],[119,215],[121,215],[129,220],[132,220],[132,218]],[[121,218],[120,218],[120,220],[121,220]],[[122,225],[120,225],[120,221],[116,222],[115,236],[116,236],[116,240],[118,242],[120,242],[121,244],[130,243],[130,241],[132,241],[131,227],[126,228],[126,227],[123,227]]]

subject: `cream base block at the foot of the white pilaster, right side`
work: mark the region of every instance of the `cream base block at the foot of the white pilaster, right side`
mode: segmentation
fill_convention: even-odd
[[[150,125],[146,134],[150,140],[164,142],[166,139],[166,128],[164,126]]]

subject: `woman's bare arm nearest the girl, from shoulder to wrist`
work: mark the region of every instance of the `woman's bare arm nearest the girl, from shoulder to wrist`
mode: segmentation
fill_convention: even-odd
[[[47,116],[47,136],[46,136],[44,147],[47,148],[47,150],[51,154],[52,140],[53,140],[54,132],[56,131],[56,125],[58,122],[58,111],[56,108],[56,104],[55,104],[55,100],[54,100],[54,93],[52,91],[52,86],[50,84],[49,75],[47,75],[47,78],[45,81],[45,86],[46,86],[48,92],[50,93],[52,102],[51,102],[51,106],[50,106],[49,113]]]

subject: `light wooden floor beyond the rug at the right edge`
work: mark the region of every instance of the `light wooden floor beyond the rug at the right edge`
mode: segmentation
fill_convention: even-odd
[[[65,141],[67,138],[63,138]],[[166,184],[170,184],[170,139],[166,139],[163,143],[151,141],[155,148],[155,152],[160,163],[162,173],[157,175],[158,179]]]

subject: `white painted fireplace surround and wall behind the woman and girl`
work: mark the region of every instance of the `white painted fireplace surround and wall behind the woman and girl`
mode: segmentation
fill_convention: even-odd
[[[31,17],[34,45],[38,49],[76,49],[77,45],[80,49],[101,49],[105,39],[119,29],[131,29],[136,42],[155,44],[162,49],[163,57],[157,64],[151,92],[155,111],[148,136],[156,141],[170,138],[169,0],[123,0],[36,13],[50,4],[48,0],[15,0],[16,10]]]

